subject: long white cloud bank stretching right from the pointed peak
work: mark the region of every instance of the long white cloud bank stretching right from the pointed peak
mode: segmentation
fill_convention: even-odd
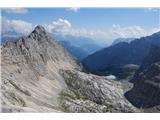
[[[140,26],[125,26],[113,24],[110,28],[106,30],[98,29],[86,29],[86,28],[73,28],[71,23],[66,19],[58,19],[53,21],[51,24],[45,25],[47,30],[51,33],[58,32],[61,35],[73,35],[73,36],[83,36],[96,39],[99,42],[105,42],[111,44],[116,38],[139,38],[146,35],[151,35],[152,33],[158,31],[156,28],[146,32]]]

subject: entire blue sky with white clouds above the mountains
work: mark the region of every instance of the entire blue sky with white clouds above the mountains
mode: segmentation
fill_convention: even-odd
[[[159,8],[2,8],[1,16],[2,32],[29,34],[40,24],[51,33],[108,43],[160,30]]]

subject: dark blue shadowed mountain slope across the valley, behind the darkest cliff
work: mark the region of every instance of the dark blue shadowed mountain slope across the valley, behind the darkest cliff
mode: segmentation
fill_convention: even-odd
[[[160,44],[160,32],[136,39],[131,43],[121,42],[97,51],[82,62],[90,71],[107,70],[127,64],[140,65],[152,44]]]

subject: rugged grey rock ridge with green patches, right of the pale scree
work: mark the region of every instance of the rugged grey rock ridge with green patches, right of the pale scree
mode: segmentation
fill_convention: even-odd
[[[89,112],[87,106],[97,108],[94,112],[139,112],[125,99],[120,82],[72,70],[62,70],[61,74],[72,91],[65,93],[62,100],[69,112]]]

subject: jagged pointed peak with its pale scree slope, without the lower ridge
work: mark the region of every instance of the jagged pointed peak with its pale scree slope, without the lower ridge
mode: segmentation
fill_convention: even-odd
[[[1,46],[2,112],[58,112],[67,86],[59,69],[80,69],[76,61],[37,26],[29,35]]]

